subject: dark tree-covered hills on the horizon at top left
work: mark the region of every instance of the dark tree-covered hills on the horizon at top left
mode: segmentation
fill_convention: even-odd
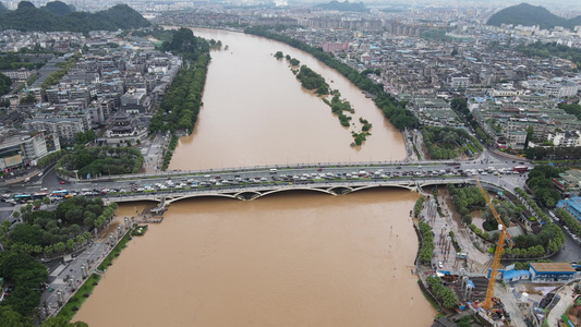
[[[19,9],[0,12],[2,28],[43,32],[89,32],[130,29],[152,25],[149,21],[126,4],[118,4],[96,13],[73,12],[70,8],[70,12],[62,13],[66,11],[60,4],[62,2],[49,5],[50,3],[53,2],[47,3],[47,8],[38,9],[28,1],[22,1],[19,3]]]

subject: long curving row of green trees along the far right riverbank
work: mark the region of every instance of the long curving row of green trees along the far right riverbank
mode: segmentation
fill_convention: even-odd
[[[344,64],[332,58],[330,55],[323,52],[323,49],[311,47],[292,37],[271,33],[268,26],[249,27],[244,29],[244,33],[275,39],[313,55],[313,57],[326,65],[337,70],[361,90],[376,95],[377,97],[375,99],[375,104],[377,107],[379,107],[379,109],[382,109],[384,116],[389,119],[391,124],[394,124],[394,126],[396,126],[398,130],[417,126],[417,119],[413,117],[411,112],[406,110],[404,102],[397,101],[394,97],[384,92],[382,84],[375,84],[366,76],[366,74],[358,73],[358,71],[348,64]]]

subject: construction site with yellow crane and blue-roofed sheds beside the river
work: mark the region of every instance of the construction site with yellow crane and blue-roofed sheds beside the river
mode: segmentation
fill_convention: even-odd
[[[489,252],[468,250],[472,240],[462,240],[465,231],[446,219],[451,210],[436,192],[424,193],[426,201],[416,217],[419,237],[424,239],[420,252],[429,241],[434,249],[429,263],[422,263],[421,256],[416,263],[422,290],[439,312],[432,326],[581,326],[581,266],[531,263],[516,269],[503,261],[508,264],[504,266],[504,249],[515,242],[488,192],[476,182],[498,223],[498,240]],[[431,228],[432,240],[426,238],[425,226]],[[463,251],[457,252],[460,246]]]

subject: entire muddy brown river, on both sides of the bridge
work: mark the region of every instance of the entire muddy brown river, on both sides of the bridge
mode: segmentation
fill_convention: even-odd
[[[220,39],[229,51],[213,52],[205,106],[170,169],[403,158],[401,134],[373,102],[308,55],[231,32],[194,34]],[[349,130],[273,58],[278,50],[332,80],[373,123],[361,148],[349,146]],[[74,320],[92,327],[429,326],[435,313],[411,274],[416,198],[383,189],[173,203],[162,223],[129,243]],[[119,215],[132,208],[121,206]]]

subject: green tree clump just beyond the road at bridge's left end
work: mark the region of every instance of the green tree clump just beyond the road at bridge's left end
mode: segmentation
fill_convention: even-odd
[[[143,156],[136,148],[128,147],[76,147],[57,162],[57,171],[80,179],[104,174],[137,173]],[[77,174],[74,171],[77,170]]]

